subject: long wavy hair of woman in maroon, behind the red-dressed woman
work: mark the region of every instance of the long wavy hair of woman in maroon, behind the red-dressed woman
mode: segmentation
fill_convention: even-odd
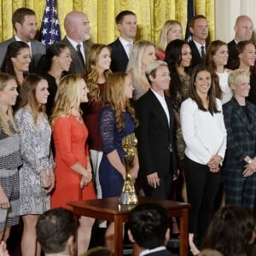
[[[88,96],[89,101],[100,101],[100,89],[97,84],[99,79],[99,72],[97,70],[96,64],[99,59],[99,55],[102,52],[102,49],[107,48],[111,53],[111,48],[106,44],[93,44],[88,50],[85,64],[85,74],[84,79],[88,86]],[[107,80],[108,75],[112,73],[109,69],[104,71],[104,77]]]

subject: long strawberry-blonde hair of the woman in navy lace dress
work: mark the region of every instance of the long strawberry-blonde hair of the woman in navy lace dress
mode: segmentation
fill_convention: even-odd
[[[115,122],[118,131],[122,131],[125,127],[123,119],[123,109],[131,114],[135,125],[138,125],[138,120],[135,116],[135,110],[131,107],[130,100],[125,97],[125,78],[130,76],[129,73],[116,72],[108,76],[106,90],[104,91],[104,102],[108,104],[115,113]]]

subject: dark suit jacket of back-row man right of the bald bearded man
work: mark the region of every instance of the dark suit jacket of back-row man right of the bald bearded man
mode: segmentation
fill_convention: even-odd
[[[110,66],[112,72],[125,72],[129,58],[125,52],[123,44],[121,44],[119,38],[117,38],[113,43],[108,45],[112,49]]]

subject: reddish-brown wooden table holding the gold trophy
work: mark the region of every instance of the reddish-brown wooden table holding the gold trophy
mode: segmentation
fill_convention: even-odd
[[[169,217],[177,217],[180,219],[179,255],[187,256],[189,254],[189,204],[138,196],[138,204],[144,202],[159,203],[166,208]],[[119,197],[88,201],[70,201],[67,205],[71,207],[71,210],[76,215],[106,219],[110,222],[114,222],[114,253],[116,256],[123,255],[123,224],[128,221],[129,212],[135,205],[119,205]]]

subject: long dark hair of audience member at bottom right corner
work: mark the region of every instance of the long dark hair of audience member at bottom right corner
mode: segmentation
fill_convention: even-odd
[[[246,247],[255,238],[253,212],[239,206],[220,208],[212,218],[203,248],[218,250],[226,256],[246,256]],[[254,233],[254,234],[253,234]]]

